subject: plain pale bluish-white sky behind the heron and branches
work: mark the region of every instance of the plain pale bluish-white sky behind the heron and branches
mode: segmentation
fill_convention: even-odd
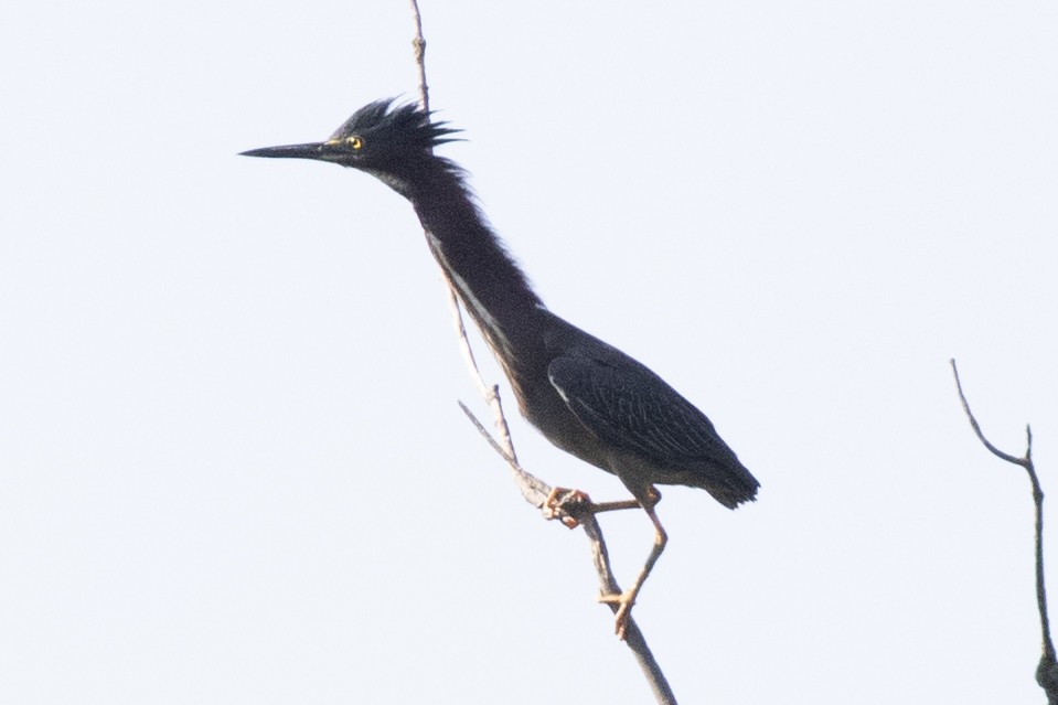
[[[423,11],[443,154],[544,300],[761,481],[664,490],[635,616],[681,702],[1045,702],[1029,485],[948,360],[1058,525],[1055,3]],[[0,702],[650,702],[457,407],[408,204],[236,156],[414,97],[407,4],[2,15]],[[650,523],[603,527],[629,584]]]

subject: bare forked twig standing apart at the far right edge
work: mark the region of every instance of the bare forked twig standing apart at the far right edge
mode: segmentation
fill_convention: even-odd
[[[970,410],[970,403],[966,402],[966,395],[962,391],[962,382],[959,380],[959,367],[955,361],[951,360],[951,371],[955,375],[955,388],[959,389],[959,399],[962,402],[962,409],[970,419],[970,426],[977,435],[977,439],[995,457],[1006,462],[1020,466],[1028,472],[1029,482],[1033,484],[1033,502],[1036,504],[1036,606],[1039,609],[1039,624],[1043,632],[1043,655],[1039,659],[1039,665],[1036,667],[1036,682],[1047,693],[1049,705],[1058,705],[1058,659],[1055,655],[1055,644],[1050,637],[1050,619],[1047,616],[1047,587],[1044,583],[1044,491],[1039,487],[1039,478],[1036,474],[1036,467],[1033,463],[1033,429],[1025,426],[1026,449],[1020,458],[1012,456],[996,448],[981,430],[981,425],[974,418]]]

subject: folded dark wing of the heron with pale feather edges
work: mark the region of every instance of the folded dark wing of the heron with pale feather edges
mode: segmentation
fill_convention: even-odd
[[[662,468],[737,463],[713,423],[664,380],[615,349],[568,354],[547,367],[566,405],[607,444]]]

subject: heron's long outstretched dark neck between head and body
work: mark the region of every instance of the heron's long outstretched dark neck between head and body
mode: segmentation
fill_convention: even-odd
[[[489,226],[457,167],[431,158],[402,185],[434,256],[513,382],[522,366],[519,357],[542,344],[543,302]]]

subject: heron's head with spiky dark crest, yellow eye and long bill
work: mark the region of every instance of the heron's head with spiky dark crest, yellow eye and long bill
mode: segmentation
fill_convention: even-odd
[[[437,145],[452,141],[458,130],[435,122],[414,104],[377,100],[356,110],[323,142],[265,147],[246,157],[314,159],[366,171],[387,181],[398,178],[432,156]]]

